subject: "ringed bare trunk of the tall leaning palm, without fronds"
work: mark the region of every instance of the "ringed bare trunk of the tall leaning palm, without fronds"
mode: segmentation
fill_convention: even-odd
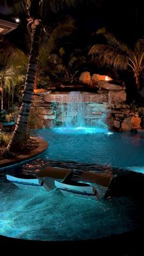
[[[41,37],[43,32],[43,26],[41,21],[35,20],[32,25],[32,40],[31,40],[31,51],[29,55],[29,64],[27,67],[26,82],[24,86],[24,93],[22,98],[22,104],[18,120],[13,132],[12,138],[10,139],[7,150],[14,152],[18,150],[25,139],[25,131],[27,128],[27,120],[29,117],[29,111],[31,109],[32,94],[34,91],[35,76],[37,76],[39,48],[41,43]]]

